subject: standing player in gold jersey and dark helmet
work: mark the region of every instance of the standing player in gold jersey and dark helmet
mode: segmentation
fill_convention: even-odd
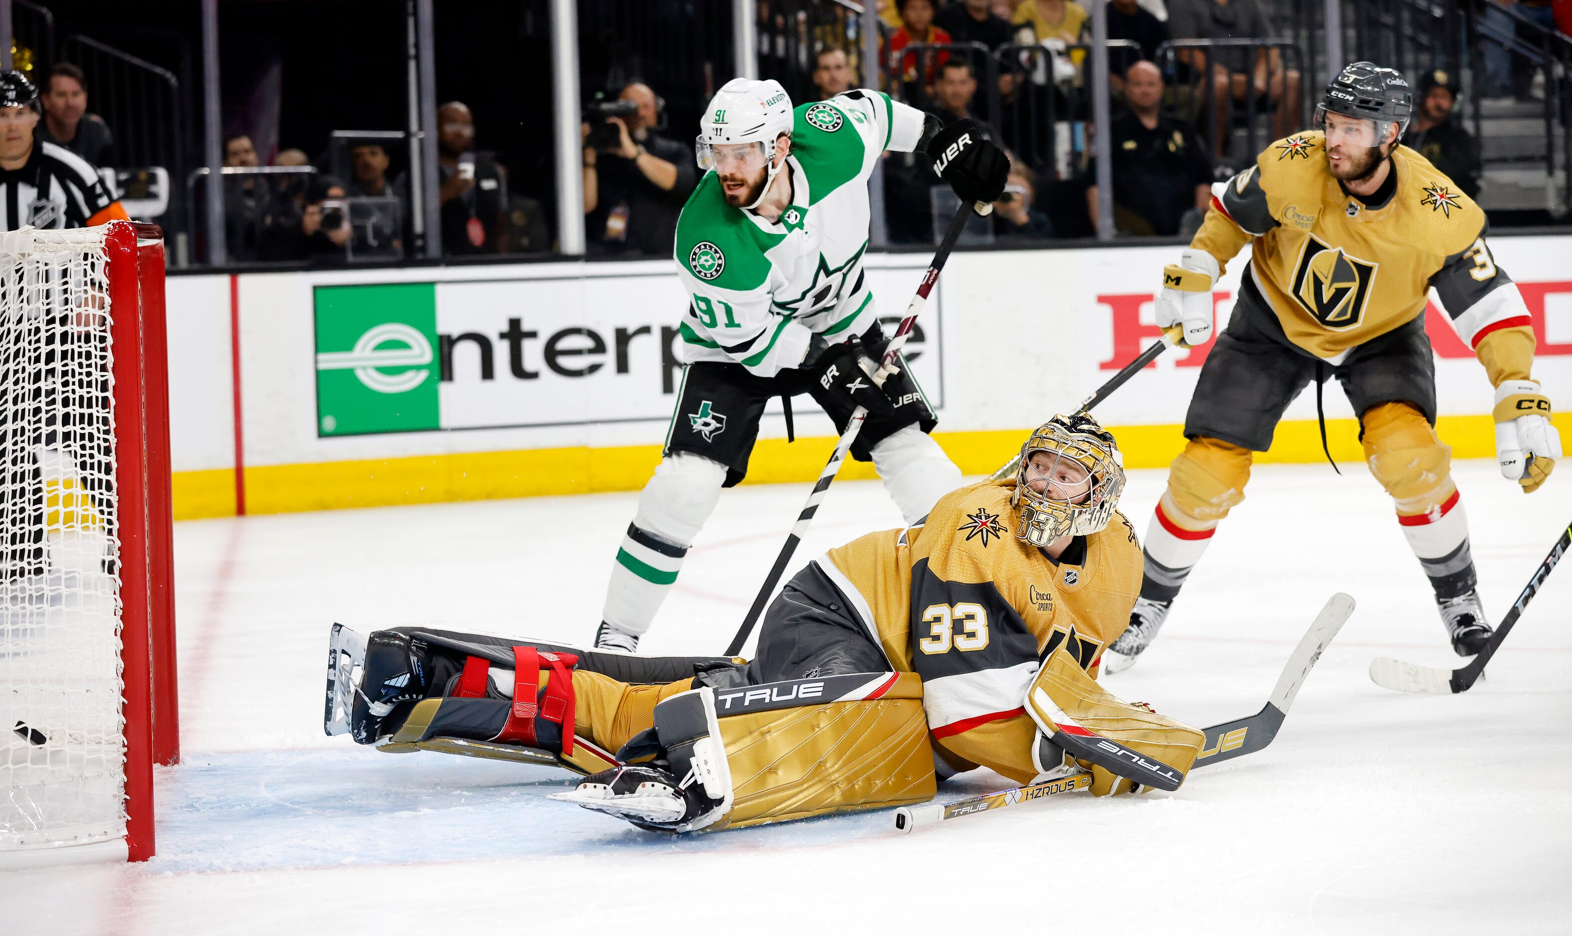
[[[1468,656],[1489,639],[1451,449],[1434,429],[1431,287],[1495,386],[1501,474],[1537,490],[1561,440],[1550,400],[1530,380],[1528,309],[1490,256],[1484,212],[1398,144],[1409,113],[1401,74],[1368,61],[1344,68],[1316,108],[1317,130],[1273,143],[1223,184],[1181,262],[1163,272],[1159,324],[1182,324],[1198,344],[1210,331],[1212,284],[1251,245],[1232,319],[1201,366],[1190,441],[1148,528],[1141,598],[1110,672],[1157,636],[1217,525],[1243,499],[1251,452],[1272,444],[1289,400],[1311,380],[1319,394],[1328,375],[1358,413],[1364,459],[1431,578],[1453,649]]]

